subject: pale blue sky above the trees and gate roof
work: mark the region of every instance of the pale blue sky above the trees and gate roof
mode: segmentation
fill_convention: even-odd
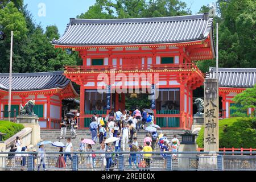
[[[196,14],[201,6],[216,2],[216,0],[182,1],[186,2],[188,7],[191,6],[192,14]],[[44,29],[49,25],[56,25],[60,35],[64,33],[69,18],[76,18],[94,3],[95,0],[24,0],[24,4],[28,5],[28,10],[34,16],[36,23],[40,23]]]

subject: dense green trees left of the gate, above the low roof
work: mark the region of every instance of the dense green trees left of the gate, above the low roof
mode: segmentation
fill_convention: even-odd
[[[19,4],[19,1],[15,1]],[[20,1],[23,5],[23,1]],[[0,72],[9,72],[10,32],[14,31],[13,71],[47,72],[63,70],[64,65],[81,64],[78,53],[55,49],[51,41],[59,39],[56,26],[46,31],[37,25],[27,10],[27,5],[16,7],[13,2],[4,1],[0,10]]]

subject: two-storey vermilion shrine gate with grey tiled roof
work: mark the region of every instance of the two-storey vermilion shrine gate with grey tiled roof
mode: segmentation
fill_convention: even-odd
[[[67,66],[64,72],[81,86],[80,129],[89,126],[94,111],[105,117],[112,108],[125,109],[125,93],[114,93],[116,86],[158,87],[159,97],[152,100],[151,105],[156,124],[163,128],[190,129],[192,91],[204,82],[204,75],[195,61],[215,57],[213,19],[209,14],[71,19],[64,35],[52,43],[56,48],[79,51],[83,60],[82,66]],[[114,81],[111,80],[113,69]],[[118,75],[120,73],[122,75]],[[153,81],[131,79],[128,77],[131,73],[152,74]],[[100,74],[105,74],[109,80],[99,80]],[[155,81],[155,77],[159,79]],[[97,92],[101,85],[113,93]]]

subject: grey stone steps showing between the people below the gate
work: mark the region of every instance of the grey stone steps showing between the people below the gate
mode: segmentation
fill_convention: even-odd
[[[169,140],[171,140],[174,136],[174,134],[181,134],[184,133],[185,130],[162,130],[163,133],[167,134],[167,138]],[[146,136],[147,131],[144,130],[140,130],[139,132],[137,132],[137,138],[138,138],[138,144],[143,146],[143,140],[144,137]],[[59,141],[59,137],[60,137],[60,130],[41,130],[41,140],[50,140],[52,142],[56,142]],[[66,138],[71,137],[69,131],[67,131],[67,135]],[[77,130],[77,137],[76,139],[71,139],[71,142],[73,144],[73,151],[76,151],[77,148],[79,147],[79,143],[80,143],[80,139],[81,138],[91,138],[90,135],[90,131],[89,130]],[[181,140],[181,137],[179,135],[177,135],[177,138],[179,140]],[[64,144],[66,144],[66,139],[60,139],[60,142],[63,142]],[[52,146],[51,144],[47,144],[46,146],[44,146],[45,150],[47,152],[53,152],[59,151],[59,148]],[[96,145],[92,146],[94,151],[99,151],[100,150],[100,144],[97,140]],[[160,148],[158,145],[156,145],[156,151],[160,151]],[[57,155],[57,154],[56,154]],[[54,154],[52,154],[51,156],[55,156]],[[125,170],[136,170],[134,164],[133,164],[133,168],[128,168],[129,167],[129,156],[128,154],[124,155],[125,157]],[[159,170],[163,170],[163,165],[164,165],[164,160],[162,158],[162,156],[160,155],[152,155],[152,163],[151,166],[154,169],[159,169]],[[172,168],[177,168],[177,161],[173,160],[172,162]],[[117,167],[115,167],[115,170],[117,170]]]

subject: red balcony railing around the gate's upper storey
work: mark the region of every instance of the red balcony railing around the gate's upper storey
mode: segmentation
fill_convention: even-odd
[[[65,71],[67,73],[73,73],[73,72],[105,72],[105,71],[111,71],[112,69],[115,69],[115,71],[149,71],[149,70],[158,70],[158,71],[164,71],[164,70],[180,70],[184,71],[187,69],[195,69],[200,73],[201,76],[204,76],[204,73],[200,71],[199,68],[195,64],[151,64],[151,65],[142,65],[142,64],[136,64],[136,65],[93,65],[93,66],[65,66]]]

